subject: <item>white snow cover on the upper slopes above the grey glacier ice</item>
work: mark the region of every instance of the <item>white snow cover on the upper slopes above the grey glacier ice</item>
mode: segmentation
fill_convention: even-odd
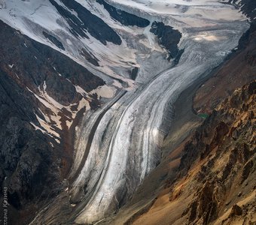
[[[48,0],[8,0],[5,4],[6,7],[0,9],[0,20],[20,30],[32,39],[68,55],[69,58],[83,65],[93,74],[96,74],[96,76],[108,80],[108,83],[112,83],[109,77],[113,77],[123,80],[124,83],[133,89],[133,81],[129,78],[130,68],[133,66],[141,67],[138,63],[140,61],[139,58],[148,58],[154,51],[165,52],[158,45],[154,35],[149,31],[150,26],[147,28],[122,26],[119,22],[113,20],[108,11],[96,1],[76,1],[90,10],[91,13],[104,20],[108,26],[114,28],[123,40],[121,46],[114,45],[113,43],[108,43],[105,46],[89,33],[87,33],[87,36],[90,39],[74,37],[69,31],[70,27],[66,20],[59,15],[56,8]],[[61,1],[57,0],[56,2],[64,6]],[[111,0],[108,2],[130,13],[136,13],[138,16],[145,17],[151,23],[154,20],[163,20],[164,23],[181,31],[183,36],[186,35],[185,28],[215,26],[218,20],[245,19],[232,6],[221,5],[218,1]],[[75,16],[77,15],[75,11],[69,11]],[[60,40],[66,50],[59,49],[50,40],[47,40],[42,31],[47,31]],[[144,38],[142,38],[143,35]],[[93,55],[99,59],[99,68],[95,68],[84,59],[81,55],[82,48],[87,49],[88,52],[93,52]],[[105,74],[108,77],[105,77]]]

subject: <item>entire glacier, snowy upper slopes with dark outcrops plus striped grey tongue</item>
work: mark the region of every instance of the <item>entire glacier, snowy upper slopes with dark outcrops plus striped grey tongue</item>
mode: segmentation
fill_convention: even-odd
[[[248,28],[235,7],[206,0],[9,0],[0,1],[0,19],[104,80],[86,89],[67,77],[84,98],[80,109],[100,101],[75,128],[66,190],[75,223],[102,220],[129,201],[160,162],[178,95],[223,62]],[[58,106],[56,93],[43,94]]]

